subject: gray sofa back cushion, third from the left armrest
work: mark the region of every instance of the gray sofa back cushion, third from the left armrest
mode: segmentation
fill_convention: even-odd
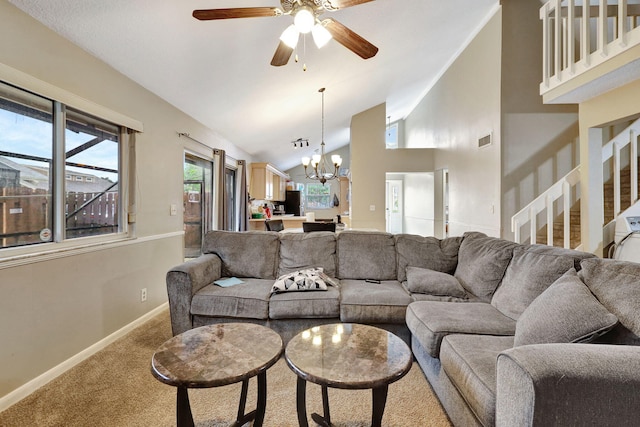
[[[380,231],[343,231],[338,234],[338,278],[396,280],[393,234]]]

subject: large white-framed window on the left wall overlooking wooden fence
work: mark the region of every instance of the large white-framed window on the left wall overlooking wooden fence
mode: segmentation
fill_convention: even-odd
[[[0,249],[122,232],[121,128],[0,82]]]

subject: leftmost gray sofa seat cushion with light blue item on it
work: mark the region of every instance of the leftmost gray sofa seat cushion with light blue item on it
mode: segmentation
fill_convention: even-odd
[[[226,288],[208,285],[191,302],[191,314],[211,317],[267,319],[273,280],[242,279],[244,283]]]

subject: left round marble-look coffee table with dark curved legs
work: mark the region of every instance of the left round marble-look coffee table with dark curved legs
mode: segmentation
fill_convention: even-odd
[[[242,381],[238,417],[233,426],[253,420],[262,426],[267,403],[267,369],[282,354],[280,335],[251,323],[202,326],[176,335],[162,344],[151,358],[151,373],[159,381],[178,388],[178,427],[193,427],[189,388],[208,388]],[[245,414],[249,379],[258,377],[256,410]]]

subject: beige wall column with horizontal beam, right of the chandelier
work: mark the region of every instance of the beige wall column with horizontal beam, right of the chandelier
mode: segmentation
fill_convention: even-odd
[[[380,104],[351,118],[351,226],[386,230],[387,172],[431,172],[433,150],[385,148],[386,108]],[[371,210],[373,206],[375,210]]]

